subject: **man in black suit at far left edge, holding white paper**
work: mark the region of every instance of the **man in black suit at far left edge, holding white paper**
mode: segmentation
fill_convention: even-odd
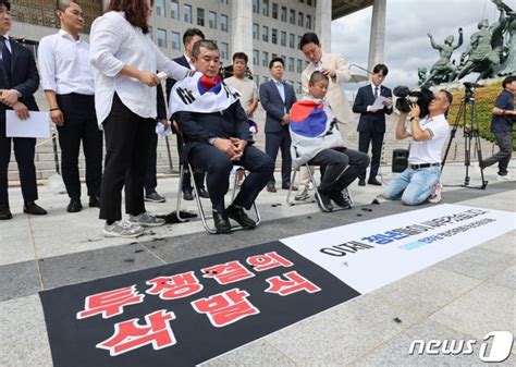
[[[8,195],[8,167],[11,160],[11,139],[20,171],[23,211],[42,216],[47,211],[34,203],[38,198],[34,155],[36,139],[27,137],[5,137],[5,110],[14,110],[16,115],[28,119],[29,110],[37,111],[34,93],[39,86],[39,74],[34,56],[25,47],[8,36],[11,29],[11,4],[0,0],[0,220],[11,219]]]

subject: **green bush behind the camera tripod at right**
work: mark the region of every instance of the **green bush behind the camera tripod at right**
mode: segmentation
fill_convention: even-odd
[[[458,107],[464,98],[464,90],[451,90],[453,95],[453,103],[447,120],[450,124],[455,123]],[[476,98],[475,107],[477,112],[477,121],[480,136],[489,142],[496,142],[491,133],[491,111],[493,110],[496,97],[502,93],[502,81],[489,84],[482,88],[475,89]],[[468,112],[469,113],[469,112]],[[469,115],[466,117],[469,119]],[[469,121],[469,120],[468,120]],[[464,117],[460,118],[459,126],[463,125]],[[513,132],[513,148],[516,149],[516,136]]]

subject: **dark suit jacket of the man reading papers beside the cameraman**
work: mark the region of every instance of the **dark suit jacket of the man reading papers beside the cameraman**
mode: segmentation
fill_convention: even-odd
[[[392,98],[392,91],[383,85],[380,86],[380,96]],[[377,112],[368,112],[367,107],[374,103],[374,94],[370,84],[360,87],[353,103],[353,112],[360,113],[357,132],[385,133],[385,113],[391,114],[392,108],[384,107]]]

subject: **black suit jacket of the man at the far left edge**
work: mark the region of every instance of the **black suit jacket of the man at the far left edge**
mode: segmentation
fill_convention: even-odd
[[[38,105],[34,99],[34,94],[39,87],[39,74],[34,61],[33,52],[23,47],[12,38],[11,44],[11,82],[5,73],[5,65],[1,62],[2,73],[0,75],[0,89],[16,89],[22,94],[20,101],[27,106],[30,111],[38,111]],[[0,103],[3,110],[8,107]],[[1,113],[4,117],[4,113]]]

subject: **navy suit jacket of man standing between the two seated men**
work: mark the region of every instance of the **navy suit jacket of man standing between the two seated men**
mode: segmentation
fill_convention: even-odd
[[[260,103],[267,112],[266,133],[279,133],[288,130],[288,124],[282,125],[280,121],[285,113],[290,113],[292,105],[296,102],[296,94],[292,85],[283,83],[285,89],[285,102],[273,81],[260,85]]]

